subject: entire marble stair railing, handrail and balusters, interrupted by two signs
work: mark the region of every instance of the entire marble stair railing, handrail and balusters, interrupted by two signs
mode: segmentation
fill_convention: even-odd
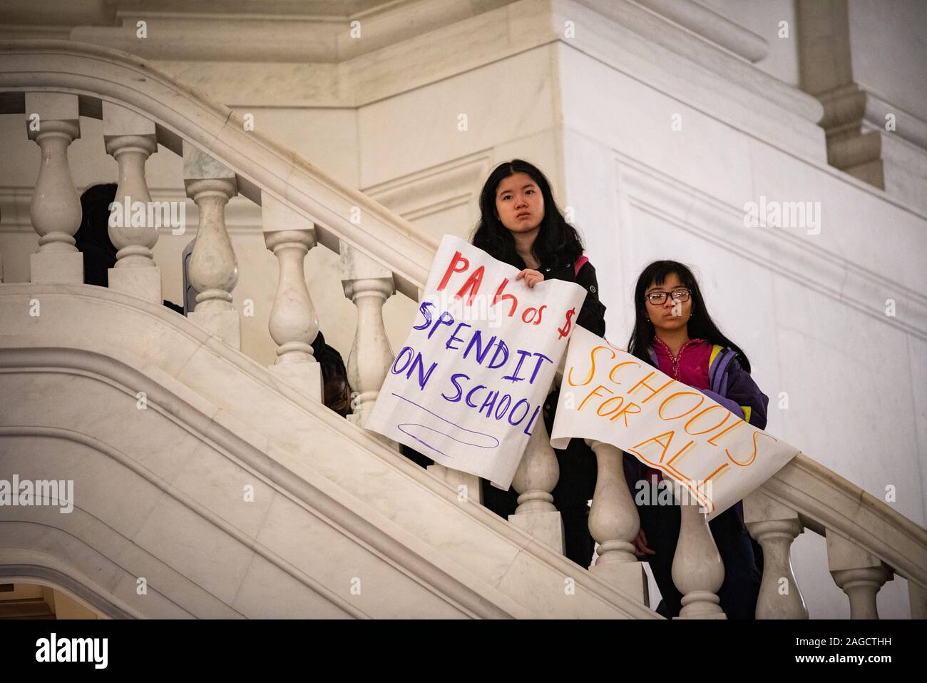
[[[183,158],[184,187],[199,209],[189,265],[199,293],[190,317],[235,348],[240,347],[239,313],[231,292],[237,261],[225,206],[236,194],[259,204],[265,244],[280,273],[269,322],[277,346],[272,370],[315,400],[322,387],[311,342],[319,320],[303,260],[318,244],[337,251],[345,295],[357,309],[348,360],[354,392],[349,419],[363,425],[393,359],[383,305],[397,291],[418,298],[437,249],[433,238],[248,131],[231,110],[121,52],[67,41],[0,45],[0,113],[23,117],[42,157],[31,205],[39,235],[39,249],[31,257],[32,282],[83,283],[83,257],[73,238],[81,206],[68,162],[81,116],[103,122],[101,144],[119,164],[117,202],[150,200],[145,165],[158,144]],[[123,225],[109,232],[119,250],[109,287],[159,303],[161,276],[152,256],[157,229]],[[544,430],[536,436],[515,474],[519,507],[510,521],[562,551],[563,527],[551,495],[559,476],[557,460]],[[632,545],[640,521],[621,452],[598,442],[590,446],[599,468],[590,511],[590,532],[599,547],[591,571],[645,601],[645,575]],[[433,471],[451,484],[479,490],[469,475],[440,466]],[[908,579],[912,616],[927,612],[927,531],[813,460],[796,457],[749,496],[745,514],[766,562],[757,616],[807,617],[790,561],[791,543],[804,528],[826,535],[830,570],[849,596],[853,617],[876,615],[876,593],[892,573]],[[705,517],[694,506],[682,506],[681,523],[673,566],[683,594],[681,616],[723,618],[717,589],[724,568]]]

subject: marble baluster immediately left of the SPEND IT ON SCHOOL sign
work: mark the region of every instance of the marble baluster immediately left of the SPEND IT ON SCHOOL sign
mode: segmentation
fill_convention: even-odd
[[[383,304],[396,293],[392,272],[361,251],[341,242],[341,284],[357,307],[357,328],[348,355],[351,410],[348,419],[363,426],[393,363]],[[356,395],[355,395],[356,394]],[[427,454],[425,454],[427,455]]]

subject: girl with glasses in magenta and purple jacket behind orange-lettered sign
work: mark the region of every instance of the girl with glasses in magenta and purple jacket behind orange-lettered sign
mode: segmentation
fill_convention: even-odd
[[[635,323],[628,351],[676,380],[705,393],[734,415],[764,429],[768,397],[750,377],[750,362],[737,344],[721,334],[708,315],[692,271],[676,261],[656,261],[644,268],[634,289]],[[673,583],[673,555],[679,538],[679,503],[655,495],[662,475],[627,453],[625,475],[641,514],[634,541],[638,555],[650,562],[663,599],[657,612],[679,614],[682,595]],[[660,484],[665,485],[665,484]],[[724,561],[718,590],[721,609],[730,619],[753,619],[759,594],[762,550],[743,525],[743,502],[709,522]]]

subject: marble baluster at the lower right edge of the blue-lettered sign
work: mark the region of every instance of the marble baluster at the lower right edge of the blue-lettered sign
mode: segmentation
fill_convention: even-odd
[[[512,487],[518,492],[518,507],[509,515],[509,522],[563,554],[564,520],[553,505],[551,493],[559,479],[557,454],[551,446],[544,416],[539,413],[512,480]]]

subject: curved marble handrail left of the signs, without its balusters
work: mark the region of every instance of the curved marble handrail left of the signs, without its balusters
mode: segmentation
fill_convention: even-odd
[[[361,251],[390,270],[400,293],[418,298],[435,238],[144,60],[74,41],[0,42],[0,113],[25,113],[27,92],[78,95],[80,114],[96,119],[103,102],[146,117],[165,148],[183,156],[185,141],[206,152],[235,173],[241,195],[259,205],[262,193],[273,195],[312,221],[324,247]]]

